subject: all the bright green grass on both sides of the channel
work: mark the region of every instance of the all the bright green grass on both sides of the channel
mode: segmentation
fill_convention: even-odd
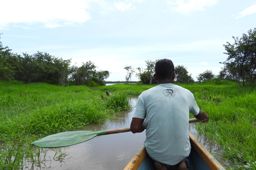
[[[210,116],[208,124],[196,128],[222,147],[220,156],[236,169],[256,169],[256,89],[225,81],[178,85],[189,89]],[[6,142],[1,146],[1,169],[18,169],[25,159],[38,159],[40,150],[29,145],[36,137],[104,121],[115,111],[129,109],[127,95],[140,95],[153,86],[116,84],[91,89],[0,82],[0,139]]]

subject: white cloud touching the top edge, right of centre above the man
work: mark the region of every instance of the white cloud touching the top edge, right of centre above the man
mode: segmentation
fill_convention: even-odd
[[[204,11],[206,6],[213,6],[217,4],[217,0],[167,0],[167,5],[172,9],[183,14],[190,14],[194,11]]]

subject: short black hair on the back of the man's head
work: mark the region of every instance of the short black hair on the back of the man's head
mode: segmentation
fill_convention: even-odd
[[[174,72],[174,65],[172,60],[165,58],[157,61],[155,72],[158,80],[171,79],[172,72]]]

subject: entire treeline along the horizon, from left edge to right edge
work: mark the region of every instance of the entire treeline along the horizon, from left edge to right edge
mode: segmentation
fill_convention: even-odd
[[[218,75],[212,73],[212,70],[206,70],[200,73],[197,81],[208,80],[223,81],[231,80],[242,86],[248,83],[249,87],[255,86],[256,79],[256,28],[249,30],[248,34],[242,37],[233,37],[234,44],[227,42],[224,44],[228,58],[224,62],[224,67]],[[0,34],[1,35],[1,34]],[[0,37],[1,38],[1,37]],[[43,82],[49,84],[70,85],[104,85],[106,83],[139,83],[156,84],[154,79],[155,64],[159,59],[145,60],[146,68],[137,67],[138,72],[135,76],[140,80],[130,81],[135,73],[132,66],[124,67],[127,71],[126,81],[107,81],[109,71],[96,71],[97,66],[93,62],[82,62],[81,67],[71,66],[71,59],[64,60],[54,57],[46,52],[37,52],[29,55],[14,54],[8,46],[3,46],[0,42],[0,80],[10,81],[18,80],[26,83]],[[195,80],[187,71],[187,67],[178,65],[175,67],[175,83],[194,83]]]

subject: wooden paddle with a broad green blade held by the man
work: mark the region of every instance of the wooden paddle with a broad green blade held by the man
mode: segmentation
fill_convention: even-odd
[[[193,122],[201,122],[201,121],[197,120],[196,118],[189,119],[189,123],[193,123]],[[112,130],[102,130],[102,131],[86,131],[86,130],[66,131],[66,132],[60,132],[60,133],[43,137],[39,140],[32,142],[31,144],[38,147],[47,147],[47,148],[63,147],[63,146],[70,146],[70,145],[74,145],[74,144],[78,144],[78,143],[90,140],[95,136],[100,136],[105,134],[114,134],[114,133],[123,133],[128,131],[131,131],[130,127],[118,128],[118,129],[112,129]]]

